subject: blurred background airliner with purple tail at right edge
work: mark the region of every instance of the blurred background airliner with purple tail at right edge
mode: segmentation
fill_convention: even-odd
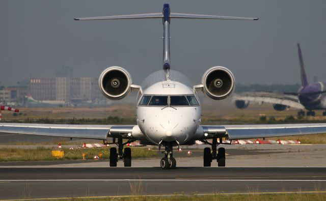
[[[299,55],[301,71],[301,87],[298,93],[268,93],[268,92],[247,92],[233,96],[235,106],[239,109],[245,109],[250,102],[272,103],[277,111],[283,111],[289,107],[300,109],[298,116],[305,116],[304,109],[307,109],[307,116],[315,116],[313,110],[325,110],[322,116],[326,116],[326,81],[314,82],[309,84],[304,68],[304,61],[300,44],[297,44],[297,53]]]

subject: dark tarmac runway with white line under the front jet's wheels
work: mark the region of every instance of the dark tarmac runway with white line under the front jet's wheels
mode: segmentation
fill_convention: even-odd
[[[2,167],[0,198],[325,191],[326,167]]]

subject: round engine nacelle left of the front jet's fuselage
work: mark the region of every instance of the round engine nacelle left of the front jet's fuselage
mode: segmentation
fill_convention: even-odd
[[[132,79],[124,68],[112,66],[101,73],[98,84],[101,93],[106,98],[120,100],[131,92]]]

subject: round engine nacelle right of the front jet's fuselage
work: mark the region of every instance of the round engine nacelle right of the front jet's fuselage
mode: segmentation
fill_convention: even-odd
[[[214,100],[221,100],[231,95],[234,90],[234,76],[229,69],[215,66],[204,73],[202,84],[207,96]]]

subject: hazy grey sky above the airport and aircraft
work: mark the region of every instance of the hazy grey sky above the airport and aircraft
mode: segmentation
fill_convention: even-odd
[[[62,66],[75,77],[126,68],[135,84],[162,68],[160,19],[74,21],[73,17],[161,12],[167,1],[0,0],[0,85],[53,77]],[[171,20],[171,68],[194,83],[211,66],[236,81],[299,83],[296,43],[309,81],[326,79],[326,1],[173,1],[171,12],[259,17],[258,21]]]

